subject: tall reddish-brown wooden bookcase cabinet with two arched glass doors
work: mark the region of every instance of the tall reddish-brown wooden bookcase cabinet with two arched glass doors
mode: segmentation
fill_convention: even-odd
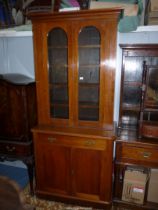
[[[29,14],[38,102],[33,129],[38,196],[103,206],[112,202],[120,12]]]

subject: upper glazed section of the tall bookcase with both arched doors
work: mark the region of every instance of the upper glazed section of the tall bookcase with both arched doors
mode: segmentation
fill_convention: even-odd
[[[113,128],[115,12],[33,21],[39,124]]]

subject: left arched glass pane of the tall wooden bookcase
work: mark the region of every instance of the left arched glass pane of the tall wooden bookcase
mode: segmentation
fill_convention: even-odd
[[[69,117],[68,41],[66,33],[55,28],[48,34],[50,115]]]

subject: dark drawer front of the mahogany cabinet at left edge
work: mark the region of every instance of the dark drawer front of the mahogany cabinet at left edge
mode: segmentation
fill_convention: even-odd
[[[29,156],[32,154],[32,144],[0,143],[0,155]]]

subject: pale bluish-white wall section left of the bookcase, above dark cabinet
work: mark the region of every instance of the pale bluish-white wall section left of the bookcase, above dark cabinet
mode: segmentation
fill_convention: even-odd
[[[0,74],[3,73],[34,78],[32,33],[0,34]]]

